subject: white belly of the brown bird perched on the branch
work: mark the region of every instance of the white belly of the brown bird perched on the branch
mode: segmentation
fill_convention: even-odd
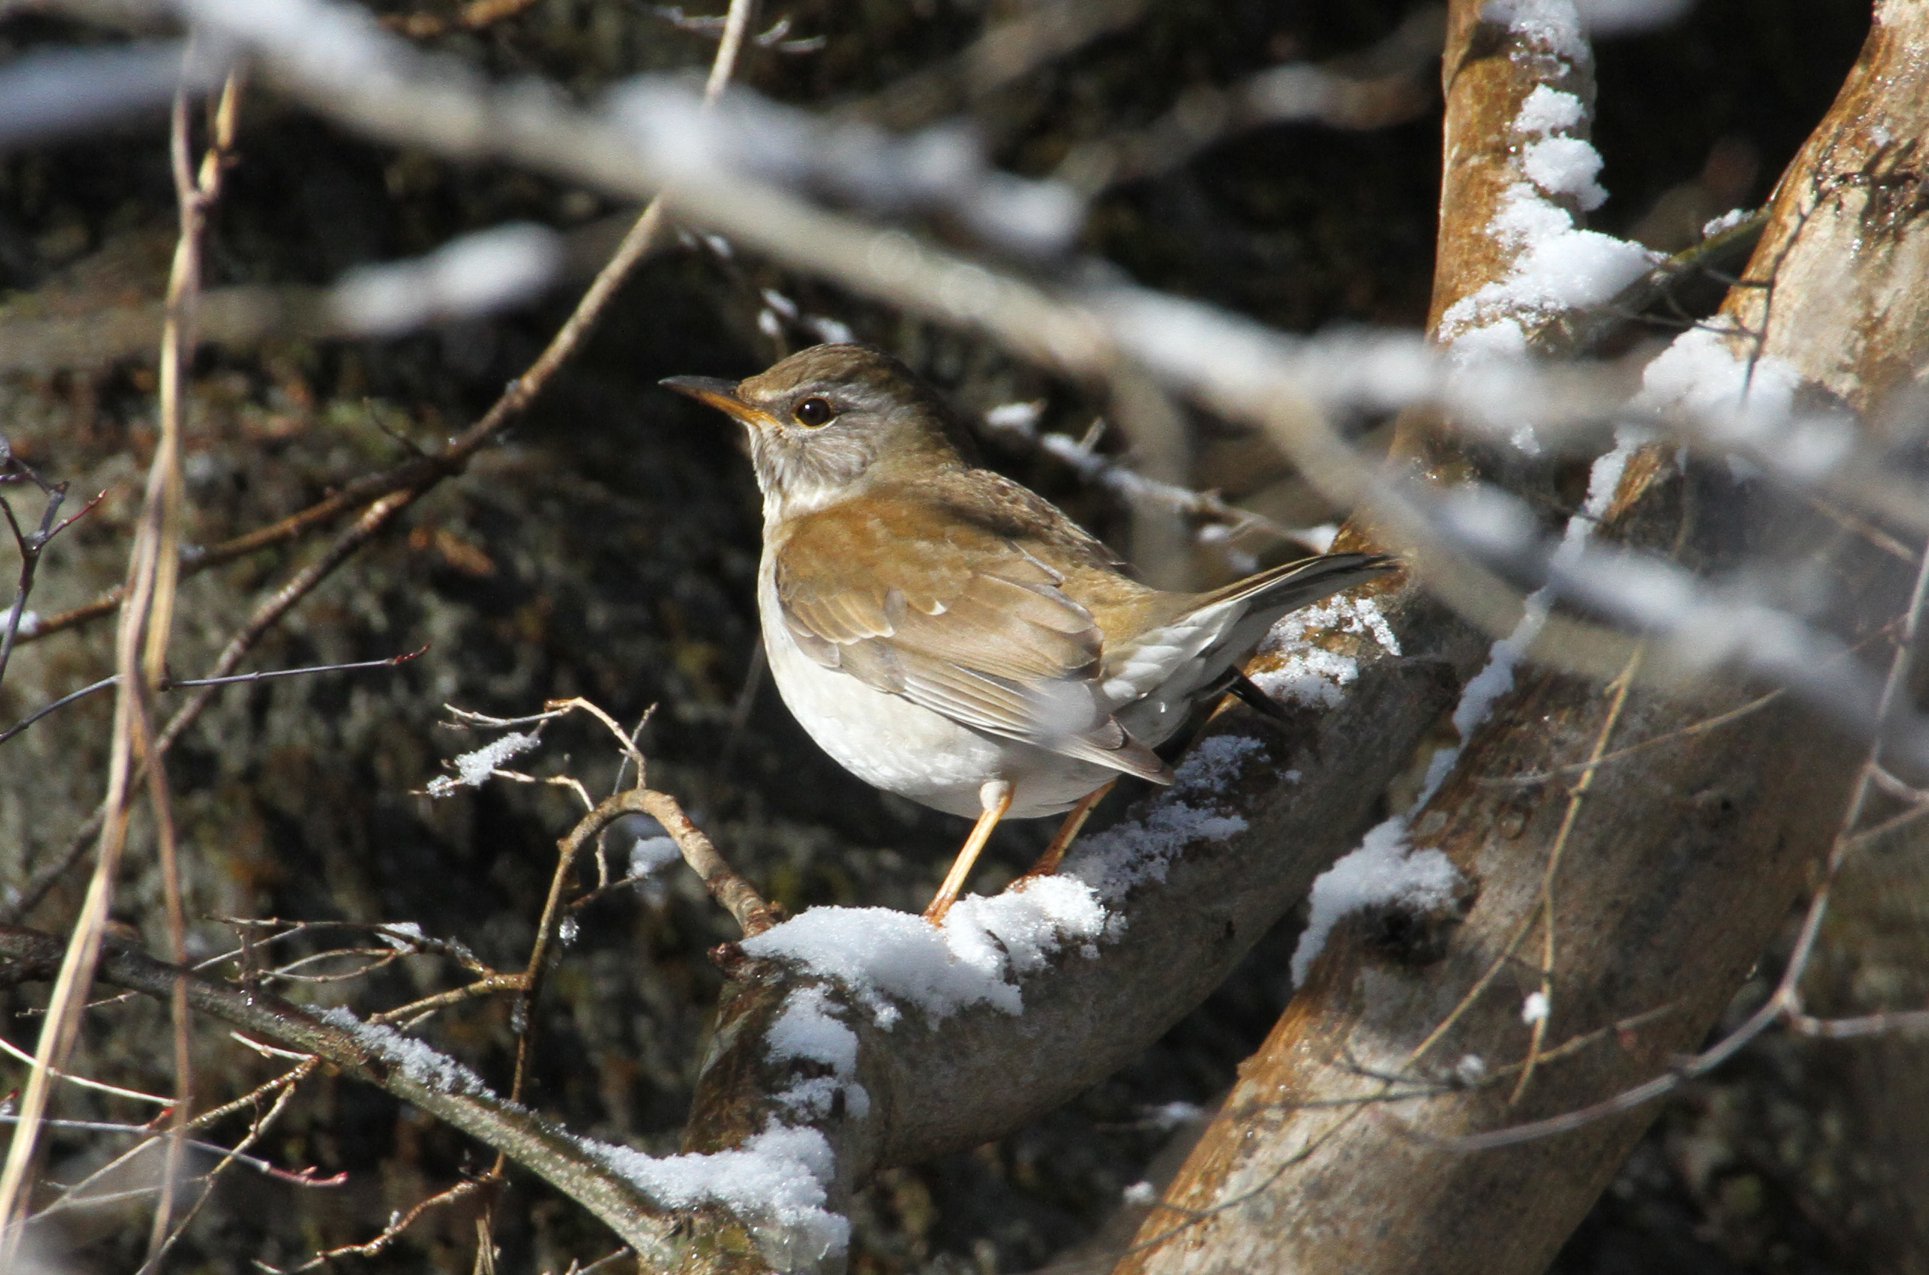
[[[1071,810],[1115,775],[1092,762],[982,735],[828,669],[797,648],[781,621],[764,623],[764,652],[791,716],[831,760],[864,783],[922,806],[976,818],[978,789],[1005,777],[1013,781],[1007,818],[1038,818]]]

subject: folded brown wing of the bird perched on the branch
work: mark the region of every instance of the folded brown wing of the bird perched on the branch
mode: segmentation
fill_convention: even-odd
[[[1171,781],[1100,698],[1105,635],[1019,540],[870,496],[789,519],[774,556],[783,623],[818,664],[988,735]]]

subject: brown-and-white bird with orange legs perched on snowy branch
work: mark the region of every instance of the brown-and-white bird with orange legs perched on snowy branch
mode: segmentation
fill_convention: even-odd
[[[1055,872],[1123,777],[1229,691],[1273,623],[1397,567],[1325,554],[1208,592],[1132,579],[1030,488],[966,459],[959,419],[872,345],[802,349],[729,382],[662,386],[739,420],[764,496],[756,602],[772,681],[876,789],[972,818],[924,909],[943,926],[992,829],[1067,814]]]

